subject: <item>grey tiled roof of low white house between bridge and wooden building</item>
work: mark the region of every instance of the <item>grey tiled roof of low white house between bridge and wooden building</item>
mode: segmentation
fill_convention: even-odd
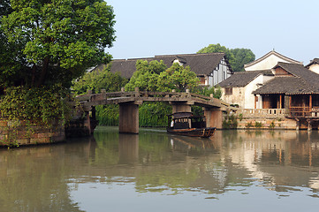
[[[231,77],[224,79],[218,84],[220,87],[246,87],[251,81],[261,74],[273,75],[270,70],[234,72]]]

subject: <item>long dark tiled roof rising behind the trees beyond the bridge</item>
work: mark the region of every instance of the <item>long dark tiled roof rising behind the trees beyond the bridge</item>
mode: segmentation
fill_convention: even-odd
[[[184,66],[189,65],[192,72],[196,75],[209,75],[213,72],[216,66],[223,59],[224,53],[208,53],[208,54],[185,54],[185,55],[163,55],[156,57],[146,57],[146,58],[134,58],[134,59],[115,59],[111,63],[110,72],[120,72],[121,75],[127,79],[133,76],[133,72],[136,71],[135,64],[139,59],[152,61],[163,60],[163,63],[167,67],[171,67],[172,62],[178,59]],[[227,62],[228,63],[228,62]],[[103,69],[105,64],[100,64],[93,71]],[[229,66],[232,71],[231,66]]]

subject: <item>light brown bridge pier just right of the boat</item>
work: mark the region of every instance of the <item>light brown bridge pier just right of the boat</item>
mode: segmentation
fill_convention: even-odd
[[[223,128],[223,111],[220,108],[204,108],[207,127]]]

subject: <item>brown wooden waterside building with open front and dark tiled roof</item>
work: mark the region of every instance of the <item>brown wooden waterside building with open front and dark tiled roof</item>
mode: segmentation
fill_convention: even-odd
[[[255,104],[261,99],[263,109],[285,109],[288,117],[319,117],[319,74],[302,64],[281,62],[274,74],[253,92]]]

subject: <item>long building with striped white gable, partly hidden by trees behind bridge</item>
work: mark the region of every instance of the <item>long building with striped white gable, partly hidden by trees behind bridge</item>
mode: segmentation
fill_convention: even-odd
[[[136,71],[135,64],[137,60],[163,60],[163,63],[169,68],[171,64],[189,66],[192,72],[195,72],[200,79],[201,86],[215,86],[224,79],[232,75],[231,65],[228,63],[224,53],[208,54],[183,54],[183,55],[163,55],[146,58],[133,59],[115,59],[111,62],[110,72],[120,72],[122,77],[130,79],[133,72]],[[95,70],[101,70],[105,64],[97,66]]]

